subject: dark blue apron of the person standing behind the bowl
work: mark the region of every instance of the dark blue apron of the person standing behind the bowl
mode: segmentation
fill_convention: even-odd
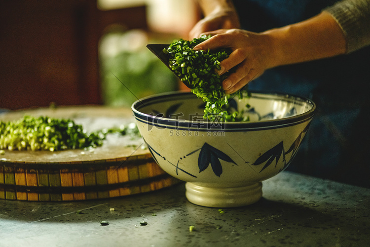
[[[242,28],[261,32],[312,17],[335,0],[234,0]],[[370,187],[370,47],[266,71],[250,90],[312,99],[317,113],[287,170]]]

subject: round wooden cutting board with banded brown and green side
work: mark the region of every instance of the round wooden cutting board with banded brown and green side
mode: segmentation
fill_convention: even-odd
[[[1,114],[0,121],[24,115],[72,119],[87,131],[134,123],[129,108],[73,106]],[[0,199],[77,201],[158,190],[180,181],[152,159],[144,140],[109,134],[89,150],[7,151],[0,155]]]

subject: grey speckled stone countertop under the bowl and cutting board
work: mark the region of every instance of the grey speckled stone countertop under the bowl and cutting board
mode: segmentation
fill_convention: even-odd
[[[237,208],[193,205],[185,198],[183,183],[108,200],[1,200],[0,246],[369,245],[370,189],[288,171],[262,183],[263,198]],[[189,231],[189,226],[195,229]]]

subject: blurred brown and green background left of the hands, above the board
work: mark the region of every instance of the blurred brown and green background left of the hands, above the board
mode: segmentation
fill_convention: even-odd
[[[187,39],[192,0],[0,1],[0,108],[130,106],[179,89],[147,43]]]

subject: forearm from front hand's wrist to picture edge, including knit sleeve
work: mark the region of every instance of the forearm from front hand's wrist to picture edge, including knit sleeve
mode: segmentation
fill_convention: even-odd
[[[271,66],[350,53],[370,45],[370,0],[342,0],[311,19],[263,33]]]

